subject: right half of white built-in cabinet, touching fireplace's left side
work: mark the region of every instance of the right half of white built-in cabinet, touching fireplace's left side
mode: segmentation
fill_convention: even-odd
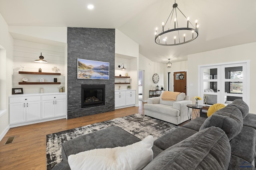
[[[66,95],[42,96],[42,118],[66,115]]]

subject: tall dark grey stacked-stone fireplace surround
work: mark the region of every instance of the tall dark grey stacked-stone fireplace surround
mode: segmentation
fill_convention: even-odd
[[[109,80],[77,79],[77,59],[109,63]],[[114,111],[115,29],[68,27],[68,119]],[[105,84],[105,105],[81,108],[81,85]]]

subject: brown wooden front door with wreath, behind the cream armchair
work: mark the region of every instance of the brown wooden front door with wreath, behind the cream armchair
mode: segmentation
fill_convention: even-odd
[[[173,73],[173,91],[184,92],[187,94],[187,72],[174,72]]]

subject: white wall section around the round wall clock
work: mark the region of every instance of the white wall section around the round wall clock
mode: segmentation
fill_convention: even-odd
[[[146,102],[149,98],[149,90],[150,86],[159,86],[166,84],[166,64],[152,62],[151,60],[147,59],[143,55],[139,55],[139,70],[145,71],[144,76],[144,87],[143,87],[143,102]],[[154,84],[152,77],[153,74],[157,73],[159,75],[159,82]],[[164,85],[167,87],[167,85]]]

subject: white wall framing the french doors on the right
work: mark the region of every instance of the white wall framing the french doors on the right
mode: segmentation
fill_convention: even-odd
[[[254,104],[256,96],[256,90],[254,89],[256,84],[254,76],[256,72],[255,47],[256,42],[188,55],[187,83],[193,84],[193,87],[189,86],[188,88],[190,99],[198,96],[198,65],[250,60],[250,112],[256,113],[256,105]]]

